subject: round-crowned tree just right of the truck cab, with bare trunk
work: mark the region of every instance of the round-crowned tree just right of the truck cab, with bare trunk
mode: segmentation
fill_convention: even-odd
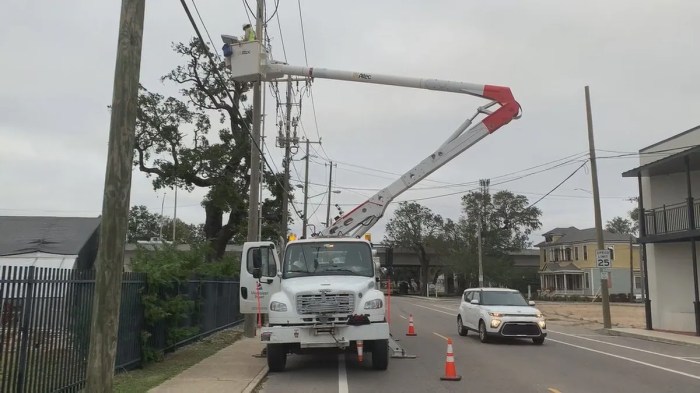
[[[401,202],[394,217],[386,224],[384,243],[406,247],[418,254],[421,264],[420,288],[424,294],[425,284],[429,282],[428,248],[437,243],[442,227],[443,219],[439,214],[415,202]]]

